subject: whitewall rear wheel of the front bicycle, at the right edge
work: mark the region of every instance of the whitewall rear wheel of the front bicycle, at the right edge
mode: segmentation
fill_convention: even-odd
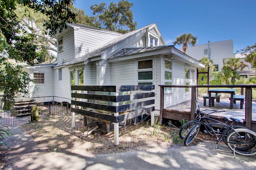
[[[228,147],[237,154],[252,156],[256,154],[256,133],[249,129],[235,129],[227,135]]]

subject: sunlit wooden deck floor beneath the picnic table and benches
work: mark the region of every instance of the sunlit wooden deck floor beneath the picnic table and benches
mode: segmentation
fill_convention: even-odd
[[[229,98],[220,98],[220,103],[214,101],[214,107],[209,107],[208,100],[206,100],[206,106],[204,106],[203,98],[198,98],[199,100],[199,107],[200,110],[204,109],[213,109],[213,110],[225,110],[225,112],[220,113],[212,113],[213,116],[219,116],[219,117],[240,117],[242,119],[245,119],[245,104],[243,106],[243,109],[240,109],[240,102],[236,101],[236,104],[234,104],[234,108],[230,109],[230,100]],[[180,118],[186,119],[187,117],[190,117],[190,108],[191,108],[191,100],[188,100],[186,102],[182,102],[180,104],[170,106],[165,108],[166,113],[168,111],[179,114],[184,114],[181,116],[176,116],[177,120]],[[198,108],[198,106],[196,106]],[[165,113],[164,113],[165,114]],[[170,114],[170,113],[167,113]],[[167,117],[170,115],[167,115]],[[163,118],[167,118],[163,115]],[[173,117],[173,116],[172,116]],[[174,116],[175,118],[175,116]],[[252,121],[256,121],[256,102],[252,102]]]

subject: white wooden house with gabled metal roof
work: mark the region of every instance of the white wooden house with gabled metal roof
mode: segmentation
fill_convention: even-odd
[[[195,85],[194,70],[204,67],[166,45],[156,23],[125,34],[71,23],[57,40],[57,64],[26,67],[37,82],[38,90],[31,96],[39,103],[70,102],[71,85],[154,84],[155,109],[159,110],[158,85]],[[166,88],[165,93],[165,107],[191,99],[186,90]]]

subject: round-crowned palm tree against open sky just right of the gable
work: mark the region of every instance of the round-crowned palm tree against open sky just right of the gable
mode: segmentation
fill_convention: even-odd
[[[188,45],[196,45],[197,43],[197,37],[192,35],[191,33],[184,33],[182,35],[179,35],[176,40],[173,42],[173,45],[183,45],[183,53],[186,53],[186,49],[188,48]]]

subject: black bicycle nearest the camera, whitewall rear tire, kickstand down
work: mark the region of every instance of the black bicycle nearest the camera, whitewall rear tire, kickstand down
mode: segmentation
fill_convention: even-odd
[[[197,103],[198,103],[198,99]],[[199,105],[198,105],[199,106]],[[198,107],[199,108],[199,107]],[[208,109],[207,109],[208,110]],[[188,125],[194,125],[187,131],[186,137],[184,139],[184,145],[189,145],[200,130],[201,124],[204,125],[205,131],[214,136],[216,139],[215,149],[218,149],[218,142],[223,141],[228,145],[228,147],[235,153],[241,154],[244,156],[251,156],[256,154],[256,133],[246,128],[238,128],[235,129],[232,123],[231,125],[227,125],[226,123],[222,123],[216,119],[210,118],[211,113],[220,112],[213,110],[210,113],[206,113],[204,111],[197,110],[198,115],[193,122],[188,123]],[[211,111],[211,110],[208,110]],[[231,120],[240,122],[240,119],[230,118]],[[187,126],[188,126],[187,125]],[[220,130],[214,130],[213,126],[221,126]],[[181,129],[181,131],[184,131]],[[220,131],[222,131],[220,133]],[[185,133],[182,133],[184,135]]]

